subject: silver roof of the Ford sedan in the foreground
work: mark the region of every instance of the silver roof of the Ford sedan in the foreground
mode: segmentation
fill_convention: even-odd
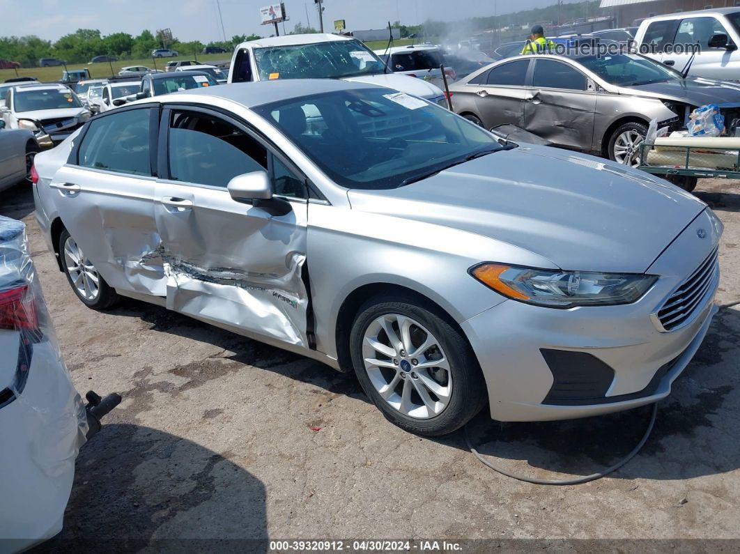
[[[161,98],[163,102],[181,101],[177,95],[217,96],[241,104],[246,108],[254,108],[263,104],[303,98],[314,94],[339,92],[342,90],[361,90],[385,88],[379,85],[358,83],[354,81],[340,81],[340,79],[285,79],[283,81],[255,81],[252,83],[233,83],[219,87],[201,87],[199,89],[172,92]],[[158,99],[160,97],[157,97]],[[151,101],[145,99],[142,102]]]

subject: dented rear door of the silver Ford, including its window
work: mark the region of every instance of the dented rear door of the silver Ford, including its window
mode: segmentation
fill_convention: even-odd
[[[157,131],[157,108],[96,117],[49,186],[64,227],[110,286],[164,296],[154,217]]]

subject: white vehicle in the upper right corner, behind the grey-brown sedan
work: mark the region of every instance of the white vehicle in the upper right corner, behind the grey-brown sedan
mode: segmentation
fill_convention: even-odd
[[[670,13],[645,19],[635,36],[639,52],[691,77],[740,81],[740,7]],[[676,45],[699,44],[692,54]]]

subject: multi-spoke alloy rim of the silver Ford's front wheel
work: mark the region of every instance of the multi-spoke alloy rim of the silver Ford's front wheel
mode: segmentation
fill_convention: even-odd
[[[370,382],[392,408],[414,419],[439,416],[450,401],[452,372],[442,345],[419,322],[386,314],[363,336]]]

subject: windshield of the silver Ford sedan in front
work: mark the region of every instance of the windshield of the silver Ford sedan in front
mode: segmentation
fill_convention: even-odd
[[[329,92],[255,111],[348,189],[394,189],[502,149],[459,115],[388,89]]]

